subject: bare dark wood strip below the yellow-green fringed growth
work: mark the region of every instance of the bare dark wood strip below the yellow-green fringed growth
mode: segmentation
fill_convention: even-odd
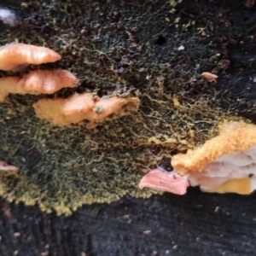
[[[85,206],[71,217],[12,205],[12,220],[1,213],[0,252],[14,255],[17,250],[24,256],[82,256],[83,252],[87,256],[253,255],[255,203],[254,195],[208,195],[190,189],[184,196],[125,198],[109,205]]]

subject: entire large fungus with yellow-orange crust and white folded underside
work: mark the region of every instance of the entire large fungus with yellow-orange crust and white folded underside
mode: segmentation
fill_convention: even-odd
[[[172,157],[174,170],[192,186],[248,195],[256,189],[256,125],[228,122],[200,148]]]

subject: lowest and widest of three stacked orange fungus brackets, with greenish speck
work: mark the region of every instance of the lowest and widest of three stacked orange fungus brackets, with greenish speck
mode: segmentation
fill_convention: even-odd
[[[47,119],[54,125],[69,126],[84,119],[89,120],[91,124],[100,123],[112,113],[118,113],[119,116],[127,114],[120,113],[126,103],[135,106],[131,110],[137,110],[139,101],[136,97],[99,98],[84,93],[75,94],[67,99],[41,99],[34,103],[33,107],[38,118]]]

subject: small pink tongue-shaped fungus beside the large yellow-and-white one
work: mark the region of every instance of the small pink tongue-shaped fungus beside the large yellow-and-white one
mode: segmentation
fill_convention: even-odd
[[[163,172],[159,169],[148,172],[139,183],[139,189],[149,188],[176,195],[186,194],[188,187],[188,180],[177,172]]]

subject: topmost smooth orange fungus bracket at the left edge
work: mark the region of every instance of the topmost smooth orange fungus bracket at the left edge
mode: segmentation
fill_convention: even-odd
[[[21,65],[61,60],[54,50],[32,44],[7,44],[0,47],[0,69],[12,70]]]

